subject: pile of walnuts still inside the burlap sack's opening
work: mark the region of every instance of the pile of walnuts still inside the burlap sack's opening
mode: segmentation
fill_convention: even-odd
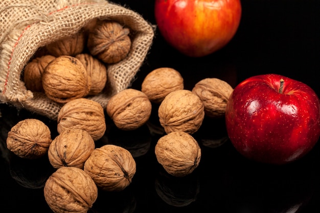
[[[48,44],[25,66],[26,88],[58,103],[95,96],[106,86],[107,65],[127,57],[129,33],[116,21],[95,20],[77,34]]]

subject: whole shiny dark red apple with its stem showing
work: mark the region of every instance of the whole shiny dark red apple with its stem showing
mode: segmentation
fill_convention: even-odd
[[[320,101],[308,85],[281,75],[250,77],[226,104],[236,150],[259,162],[285,164],[307,154],[320,136]]]

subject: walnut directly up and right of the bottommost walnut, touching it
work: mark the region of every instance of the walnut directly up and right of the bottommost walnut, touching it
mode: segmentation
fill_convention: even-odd
[[[84,171],[104,191],[122,191],[135,174],[131,153],[116,145],[96,148],[84,163]]]

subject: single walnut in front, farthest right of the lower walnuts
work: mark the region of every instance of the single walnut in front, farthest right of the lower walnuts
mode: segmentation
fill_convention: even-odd
[[[155,156],[169,174],[184,177],[198,167],[201,149],[190,134],[175,131],[159,138],[155,145]]]

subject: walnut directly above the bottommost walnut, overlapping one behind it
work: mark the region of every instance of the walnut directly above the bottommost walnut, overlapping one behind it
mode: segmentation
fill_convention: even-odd
[[[48,157],[55,169],[77,167],[83,169],[84,162],[95,149],[95,141],[82,129],[66,129],[53,139]]]

